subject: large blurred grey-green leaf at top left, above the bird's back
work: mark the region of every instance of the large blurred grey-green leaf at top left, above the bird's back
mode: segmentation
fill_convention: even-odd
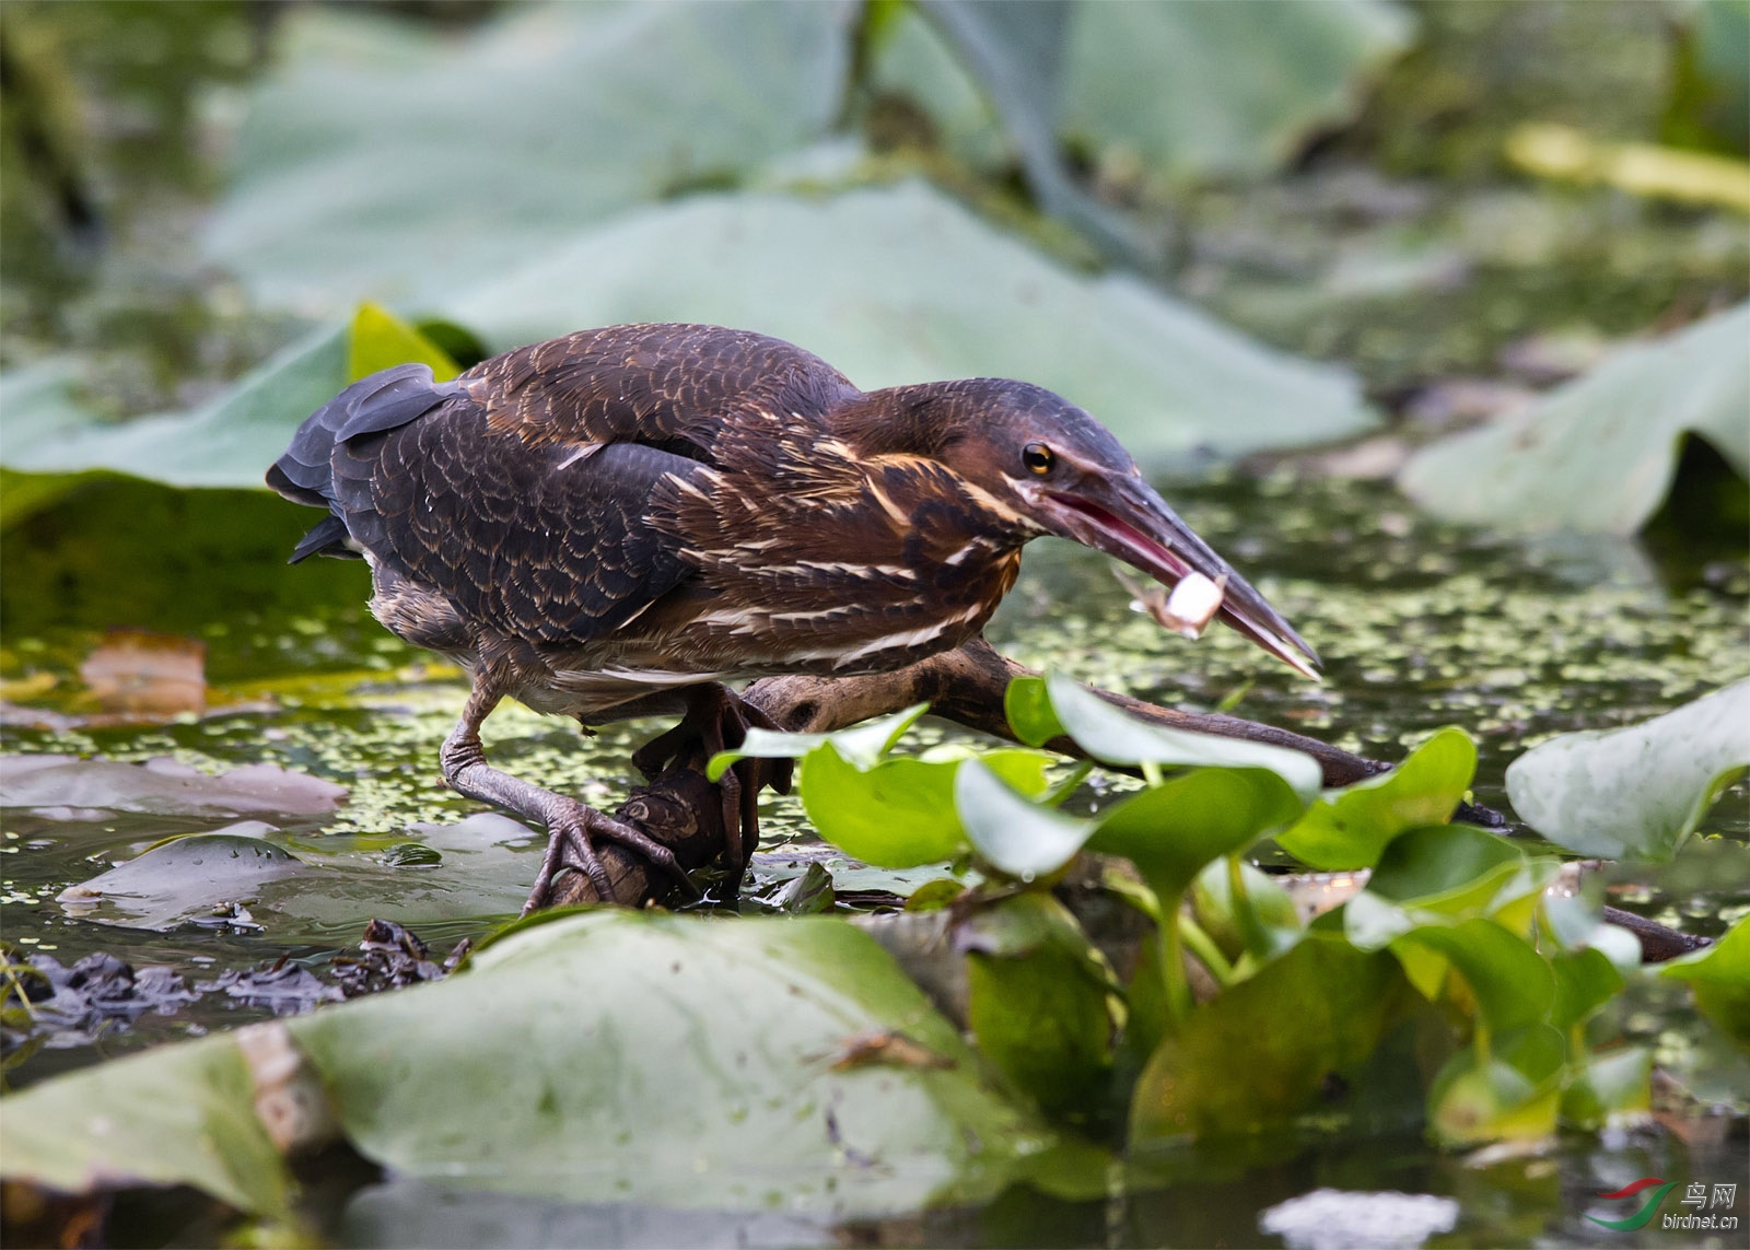
[[[556,4],[438,40],[299,9],[256,89],[206,252],[268,303],[429,303],[544,257],[581,224],[721,186],[824,133],[852,12]]]

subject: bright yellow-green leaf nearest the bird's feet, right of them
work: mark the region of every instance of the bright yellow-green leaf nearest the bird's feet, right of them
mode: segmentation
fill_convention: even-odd
[[[796,784],[821,837],[866,863],[908,868],[950,860],[966,847],[966,830],[956,814],[956,774],[985,769],[987,776],[1041,795],[1048,763],[1036,751],[992,751],[980,762],[900,758],[864,770],[826,742],[803,756]]]

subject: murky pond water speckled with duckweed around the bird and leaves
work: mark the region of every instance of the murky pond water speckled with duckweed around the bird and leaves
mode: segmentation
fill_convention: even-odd
[[[1522,544],[1432,525],[1384,488],[1288,476],[1167,483],[1167,497],[1320,648],[1323,683],[1297,678],[1223,630],[1197,644],[1164,634],[1129,609],[1104,558],[1068,544],[1041,544],[1029,555],[992,641],[1031,665],[1178,707],[1227,706],[1384,760],[1400,758],[1440,725],[1460,725],[1482,753],[1477,800],[1496,807],[1505,807],[1507,763],[1538,739],[1642,720],[1750,672],[1750,571],[1741,551],[1704,571],[1673,574],[1634,544]],[[105,523],[142,513],[175,515],[177,543],[138,530],[117,534]],[[38,690],[40,674],[60,679],[37,706],[68,706],[77,664],[103,629],[149,625],[205,641],[220,707],[201,720],[133,728],[14,725],[0,739],[7,751],[173,756],[208,772],[270,762],[352,791],[334,814],[282,821],[271,835],[326,875],[262,888],[242,923],[191,923],[168,933],[74,919],[56,895],[164,837],[215,830],[228,819],[100,812],[51,819],[7,811],[0,923],[21,952],[72,963],[108,951],[142,966],[168,965],[196,982],[282,956],[318,966],[352,947],[374,914],[411,924],[441,954],[514,912],[536,870],[539,837],[506,840],[495,826],[497,833],[469,842],[430,828],[478,811],[436,779],[438,744],[462,704],[460,681],[424,667],[424,657],[364,616],[362,565],[280,564],[303,520],[299,509],[266,495],[175,495],[96,483],[18,530],[0,592],[7,639],[0,664],[9,681],[35,678]],[[226,714],[224,700],[234,700],[236,711]],[[488,723],[488,749],[522,776],[607,804],[626,784],[628,753],[651,730],[649,723],[618,725],[584,739],[567,723],[511,707]],[[957,732],[924,728],[926,737]],[[770,888],[796,861],[780,846],[810,835],[789,798],[766,798],[765,826],[768,847],[779,849],[756,886]],[[1619,868],[1610,881],[1619,905],[1694,931],[1722,930],[1750,910],[1745,790],[1713,809],[1703,839],[1673,865]],[[840,888],[872,884],[878,875],[840,879]],[[1614,1010],[1624,1031],[1652,1045],[1661,1061],[1678,1071],[1699,1066],[1713,1080],[1726,1071],[1731,1084],[1727,1059],[1696,1054],[1701,1031],[1680,993],[1638,991]],[[7,1078],[32,1084],[264,1014],[210,993],[89,1045],[14,1056]],[[1729,1094],[1729,1087],[1715,1091]],[[1106,1203],[1057,1203],[1024,1190],[980,1211],[920,1215],[878,1229],[831,1232],[777,1220],[742,1232],[779,1245],[840,1234],[892,1243],[1218,1245],[1256,1241],[1260,1211],[1335,1185],[1451,1194],[1463,1217],[1442,1241],[1454,1245],[1577,1243],[1592,1239],[1594,1225],[1580,1218],[1591,1194],[1642,1175],[1717,1180],[1729,1166],[1741,1171],[1741,1117],[1687,1131],[1687,1145],[1666,1131],[1575,1136],[1547,1154],[1493,1162],[1440,1154],[1418,1140],[1370,1138],[1311,1154],[1284,1143],[1270,1161],[1174,1164],[1164,1187],[1143,1176],[1115,1178],[1115,1197]],[[413,1194],[394,1183],[359,1190],[326,1218],[338,1220],[336,1234],[345,1239],[436,1243],[430,1210],[450,1211],[444,1227],[458,1229],[460,1241],[472,1236],[469,1229],[486,1236],[488,1225],[490,1238],[528,1241],[528,1220],[562,1239],[625,1241],[648,1232],[668,1241],[681,1234],[679,1217],[663,1213],[500,1210],[478,1197]]]

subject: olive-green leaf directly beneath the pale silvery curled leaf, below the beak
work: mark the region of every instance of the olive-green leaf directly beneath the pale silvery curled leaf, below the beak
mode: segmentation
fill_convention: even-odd
[[[1300,807],[1274,772],[1197,769],[1110,807],[1088,846],[1130,860],[1171,907],[1206,863],[1244,851]]]

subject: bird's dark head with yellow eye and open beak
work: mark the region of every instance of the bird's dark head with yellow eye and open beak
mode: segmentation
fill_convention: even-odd
[[[1318,655],[1293,625],[1180,520],[1111,431],[1074,404],[1043,387],[994,378],[901,387],[870,399],[880,401],[872,408],[882,417],[870,411],[858,422],[864,436],[858,441],[868,450],[942,462],[987,497],[992,523],[1012,527],[1018,541],[1068,537],[1166,586],[1190,572],[1225,579],[1218,616],[1298,672],[1318,676]]]

